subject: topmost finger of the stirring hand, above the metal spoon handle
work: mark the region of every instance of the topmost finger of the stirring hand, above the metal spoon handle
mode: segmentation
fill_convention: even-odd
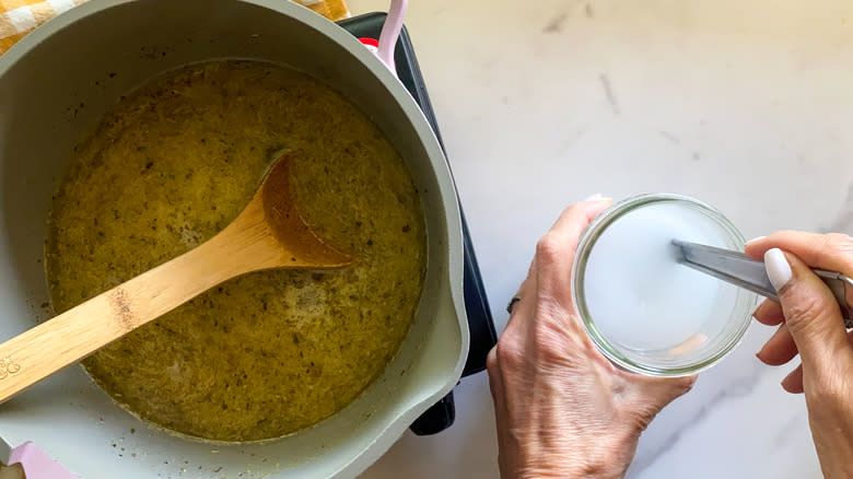
[[[746,254],[761,259],[771,248],[791,253],[813,268],[853,274],[853,238],[845,234],[780,231],[746,245]]]

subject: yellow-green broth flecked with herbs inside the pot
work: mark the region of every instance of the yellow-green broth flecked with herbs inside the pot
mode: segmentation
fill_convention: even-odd
[[[277,437],[342,409],[398,350],[426,257],[412,179],[338,93],[259,62],[154,79],[75,148],[48,219],[55,308],[213,236],[288,150],[307,222],[357,264],[237,278],[86,359],[131,412],[198,437]]]

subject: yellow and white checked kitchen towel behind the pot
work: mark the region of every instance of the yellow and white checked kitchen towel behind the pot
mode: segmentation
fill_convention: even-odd
[[[86,0],[0,0],[0,55],[24,35]],[[343,0],[296,0],[330,20],[349,16]]]

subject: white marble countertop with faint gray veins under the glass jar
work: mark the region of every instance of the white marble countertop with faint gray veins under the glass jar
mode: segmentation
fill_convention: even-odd
[[[353,14],[386,0],[350,0]],[[489,299],[505,301],[561,209],[595,192],[675,191],[747,237],[853,231],[853,3],[848,0],[412,1],[412,36]],[[704,373],[643,434],[630,478],[820,477],[793,364]],[[484,374],[456,423],[410,433],[364,478],[494,478]],[[405,471],[405,472],[404,472]]]

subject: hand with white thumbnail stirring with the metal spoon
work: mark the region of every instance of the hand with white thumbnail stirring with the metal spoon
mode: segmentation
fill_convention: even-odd
[[[748,243],[746,253],[763,258],[781,303],[768,300],[756,309],[760,323],[779,325],[758,358],[782,365],[799,354],[802,364],[782,387],[806,395],[823,476],[853,478],[853,331],[844,328],[829,288],[809,269],[853,278],[853,238],[783,231]],[[848,303],[853,304],[850,289]]]

